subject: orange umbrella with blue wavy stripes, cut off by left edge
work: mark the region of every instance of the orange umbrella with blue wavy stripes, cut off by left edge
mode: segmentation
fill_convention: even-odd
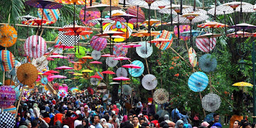
[[[9,71],[14,68],[15,58],[9,50],[0,50],[0,66],[1,70]]]

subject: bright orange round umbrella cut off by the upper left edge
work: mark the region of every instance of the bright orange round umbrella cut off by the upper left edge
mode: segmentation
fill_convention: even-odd
[[[11,47],[17,41],[17,31],[9,25],[0,26],[0,46]]]

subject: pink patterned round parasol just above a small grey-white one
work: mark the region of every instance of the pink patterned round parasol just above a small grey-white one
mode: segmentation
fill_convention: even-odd
[[[98,51],[103,50],[107,46],[107,39],[106,38],[100,38],[100,37],[97,37],[97,36],[92,36],[92,38],[90,40],[90,46],[94,50],[98,50]]]

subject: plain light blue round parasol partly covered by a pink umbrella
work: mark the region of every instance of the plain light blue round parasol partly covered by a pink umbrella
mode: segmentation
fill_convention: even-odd
[[[132,75],[132,77],[139,77],[144,72],[144,64],[140,60],[134,60],[132,61],[132,64],[137,65],[141,68],[129,68],[129,74]]]

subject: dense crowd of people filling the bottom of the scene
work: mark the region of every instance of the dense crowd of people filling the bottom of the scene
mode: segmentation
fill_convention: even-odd
[[[159,108],[169,109],[164,105]],[[177,109],[170,114],[159,114],[151,102],[137,102],[132,109],[128,109],[124,104],[102,102],[99,97],[83,94],[65,98],[31,95],[21,101],[15,128],[222,128],[220,115],[215,113],[213,117],[212,122],[192,123],[188,116]],[[240,127],[254,128],[255,124],[246,120],[235,121],[233,128]]]

